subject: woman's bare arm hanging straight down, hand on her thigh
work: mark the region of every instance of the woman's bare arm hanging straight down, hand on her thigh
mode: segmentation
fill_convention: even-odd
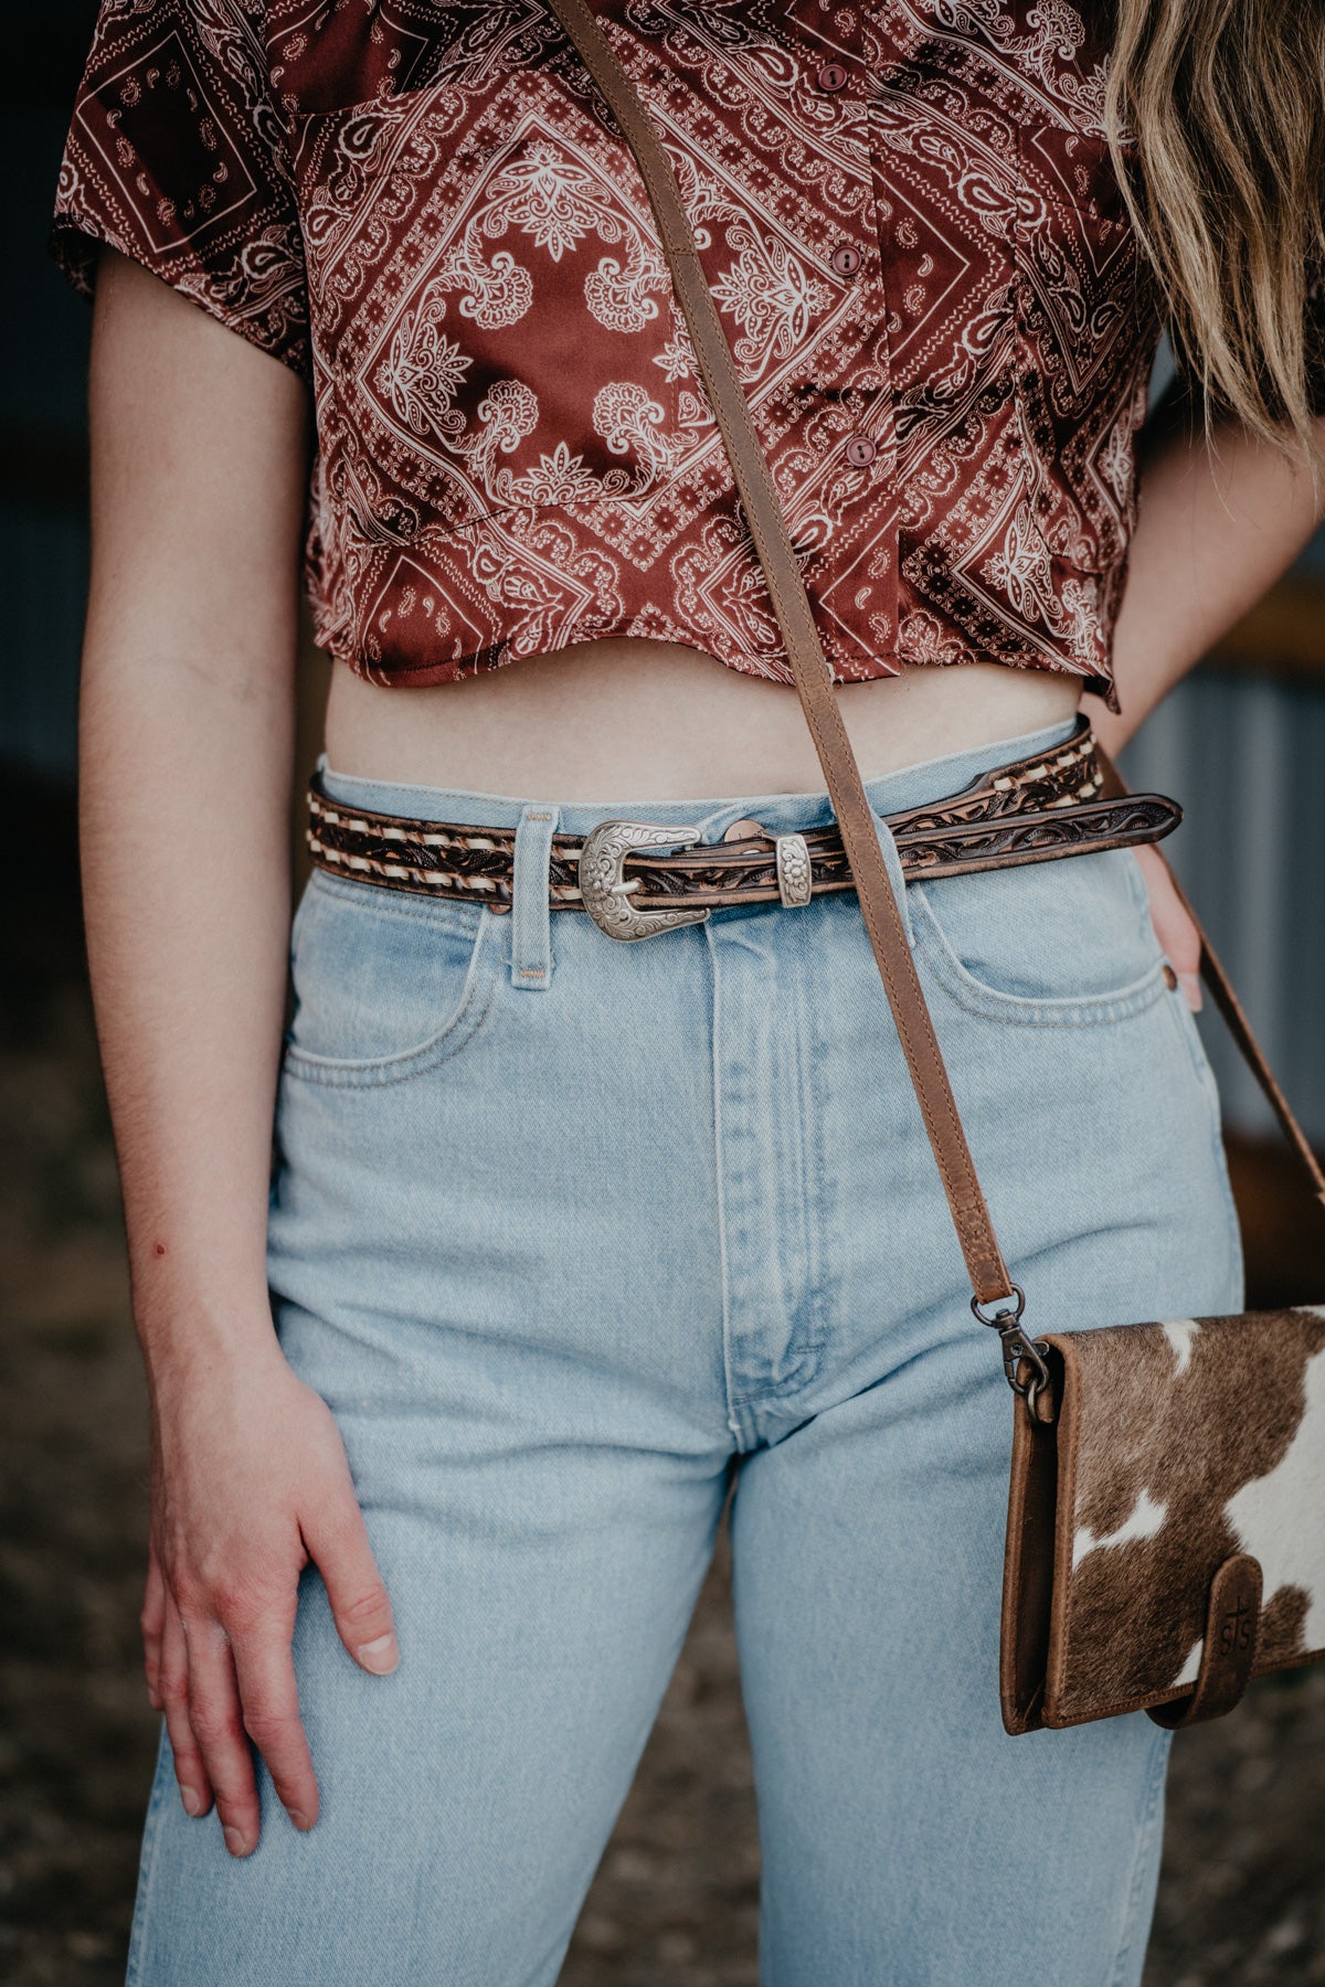
[[[147,1679],[185,1808],[258,1838],[248,1739],[298,1826],[318,1788],[290,1635],[312,1558],[346,1647],[391,1609],[326,1405],[266,1292],[290,918],[306,389],[103,252],[79,807],[87,956],[153,1409]]]

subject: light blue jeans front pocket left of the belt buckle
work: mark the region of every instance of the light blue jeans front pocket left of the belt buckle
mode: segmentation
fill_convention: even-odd
[[[415,902],[314,870],[290,940],[286,1073],[354,1089],[455,1057],[497,988],[497,922],[483,904]]]

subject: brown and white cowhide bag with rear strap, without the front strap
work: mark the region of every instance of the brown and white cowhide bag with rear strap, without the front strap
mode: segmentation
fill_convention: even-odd
[[[1325,1202],[1200,936],[1206,986]],[[1013,1379],[1009,1733],[1140,1709],[1194,1725],[1251,1677],[1325,1657],[1325,1305],[1051,1331]]]

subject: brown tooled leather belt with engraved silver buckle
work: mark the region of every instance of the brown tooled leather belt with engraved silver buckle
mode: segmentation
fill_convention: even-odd
[[[981,773],[928,807],[886,815],[904,876],[954,876],[1055,856],[1156,842],[1182,821],[1158,793],[1103,795],[1095,733],[1081,717],[1063,745]],[[377,815],[334,801],[320,775],[308,791],[308,848],[318,868],[358,882],[511,910],[515,829]],[[669,852],[667,852],[669,850]],[[721,842],[646,821],[602,821],[590,835],[554,835],[552,910],[588,910],[612,938],[646,938],[735,904],[809,904],[850,890],[836,827],[773,835],[735,821]]]

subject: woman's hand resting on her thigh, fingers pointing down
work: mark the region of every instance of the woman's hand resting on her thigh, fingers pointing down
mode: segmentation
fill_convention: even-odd
[[[224,1844],[258,1842],[258,1749],[296,1828],[318,1818],[290,1641],[314,1562],[354,1661],[385,1675],[399,1649],[350,1464],[326,1403],[270,1353],[209,1361],[153,1387],[147,1689],[165,1711],[181,1800],[217,1806]]]

